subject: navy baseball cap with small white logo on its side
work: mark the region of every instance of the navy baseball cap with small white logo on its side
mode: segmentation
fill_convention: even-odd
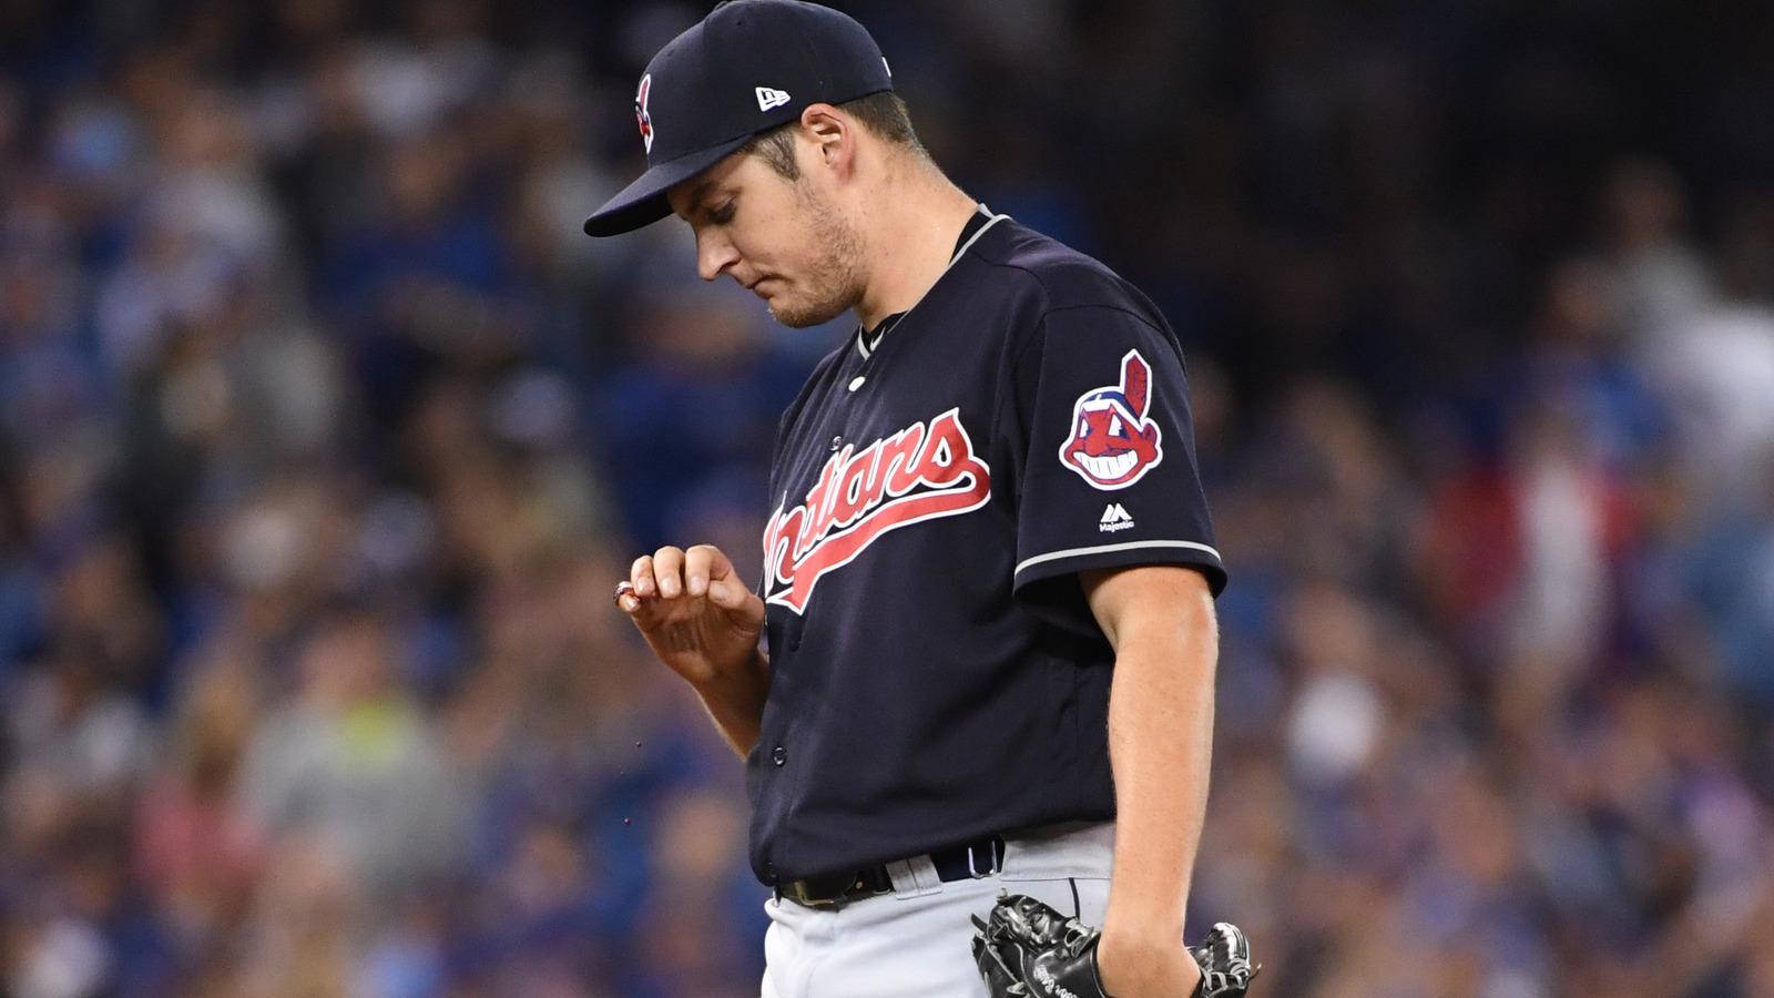
[[[727,0],[648,62],[635,91],[648,172],[585,218],[585,234],[616,236],[671,215],[667,188],[807,105],[891,89],[882,50],[848,14],[800,0]]]

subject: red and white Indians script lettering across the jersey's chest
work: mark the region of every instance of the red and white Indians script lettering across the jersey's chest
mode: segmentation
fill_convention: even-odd
[[[883,533],[985,506],[992,469],[974,453],[951,408],[892,437],[825,462],[807,501],[770,515],[765,527],[765,598],[795,613],[812,588]]]

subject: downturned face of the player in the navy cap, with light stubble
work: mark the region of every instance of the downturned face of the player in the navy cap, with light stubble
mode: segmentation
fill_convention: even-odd
[[[695,233],[703,281],[727,273],[788,327],[820,325],[862,298],[860,245],[805,163],[786,179],[765,160],[734,153],[667,192]]]

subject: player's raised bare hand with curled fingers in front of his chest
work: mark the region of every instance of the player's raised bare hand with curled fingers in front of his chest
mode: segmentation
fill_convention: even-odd
[[[765,602],[717,547],[642,554],[617,586],[616,606],[653,653],[692,685],[738,675],[756,661]]]

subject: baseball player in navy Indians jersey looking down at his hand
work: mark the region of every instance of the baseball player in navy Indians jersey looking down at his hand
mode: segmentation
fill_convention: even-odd
[[[703,279],[859,320],[782,416],[759,586],[697,545],[616,591],[745,758],[763,994],[1242,993],[1235,929],[1181,941],[1226,572],[1164,316],[954,186],[836,11],[715,7],[635,114],[589,234],[678,215]]]

